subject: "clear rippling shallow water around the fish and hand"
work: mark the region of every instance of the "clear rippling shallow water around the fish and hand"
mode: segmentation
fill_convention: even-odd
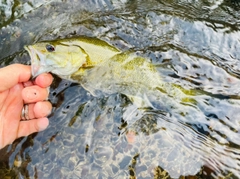
[[[169,97],[160,110],[137,110],[124,95],[96,98],[55,77],[49,128],[0,151],[2,178],[240,178],[237,1],[2,1],[0,9],[1,66],[29,64],[24,45],[86,35],[202,92],[196,103],[172,108]]]

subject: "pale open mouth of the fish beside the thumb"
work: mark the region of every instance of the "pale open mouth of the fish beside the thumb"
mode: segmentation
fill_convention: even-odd
[[[41,59],[37,51],[31,46],[25,46],[25,50],[27,50],[30,58],[31,58],[31,72],[32,78],[37,77],[39,74],[43,73],[43,69],[41,67]]]

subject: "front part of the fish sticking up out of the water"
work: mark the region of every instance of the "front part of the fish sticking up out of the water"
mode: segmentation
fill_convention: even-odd
[[[53,48],[52,51],[48,51],[49,46]],[[31,57],[33,77],[52,72],[70,80],[78,70],[92,67],[120,53],[107,42],[90,37],[43,41],[25,46],[25,49]]]

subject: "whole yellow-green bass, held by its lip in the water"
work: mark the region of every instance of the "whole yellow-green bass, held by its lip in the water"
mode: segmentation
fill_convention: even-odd
[[[164,82],[149,59],[98,38],[43,41],[25,49],[33,77],[51,72],[81,84],[93,96],[122,93],[139,107],[153,107],[151,101],[165,101],[169,96],[180,102],[195,101],[195,92]]]

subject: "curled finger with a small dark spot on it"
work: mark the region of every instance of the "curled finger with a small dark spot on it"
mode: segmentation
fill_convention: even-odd
[[[24,103],[35,103],[44,101],[48,97],[48,90],[37,85],[26,87],[22,90]]]

